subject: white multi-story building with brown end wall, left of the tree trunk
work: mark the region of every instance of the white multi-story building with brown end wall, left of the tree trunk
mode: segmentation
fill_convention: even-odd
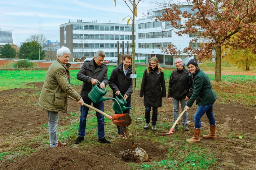
[[[119,53],[132,52],[132,25],[118,23],[68,22],[59,26],[60,46],[65,45],[71,50],[70,61],[85,56],[91,60],[98,50],[106,53],[107,60],[117,59]],[[127,50],[127,45],[128,50]]]

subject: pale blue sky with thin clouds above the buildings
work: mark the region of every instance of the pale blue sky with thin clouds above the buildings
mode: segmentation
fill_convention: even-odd
[[[152,1],[155,0],[138,4],[135,20],[142,18],[147,10],[158,8]],[[18,46],[34,34],[59,41],[59,25],[69,19],[71,22],[82,19],[83,22],[127,23],[127,19],[122,19],[132,17],[123,0],[116,0],[116,8],[114,0],[0,0],[0,11],[0,28],[13,30]]]

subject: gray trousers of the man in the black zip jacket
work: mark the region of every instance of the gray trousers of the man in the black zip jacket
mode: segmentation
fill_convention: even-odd
[[[172,97],[172,104],[173,104],[173,123],[178,119],[179,116],[179,105],[181,105],[181,110],[183,111],[187,101],[185,98],[183,99],[175,99]],[[187,111],[182,115],[182,124],[187,124]]]

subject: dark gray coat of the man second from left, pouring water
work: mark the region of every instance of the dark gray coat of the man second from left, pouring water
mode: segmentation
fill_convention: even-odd
[[[95,68],[93,60],[85,61],[81,70],[77,73],[76,78],[83,82],[83,86],[80,92],[82,98],[90,100],[88,93],[92,90],[92,83],[90,82],[92,78],[97,79],[99,82],[104,82],[105,86],[109,83],[107,77],[107,65],[102,64]]]

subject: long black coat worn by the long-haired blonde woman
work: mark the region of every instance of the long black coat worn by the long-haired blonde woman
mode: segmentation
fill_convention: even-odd
[[[144,96],[144,106],[161,107],[162,97],[166,97],[164,73],[158,72],[158,67],[154,70],[150,67],[150,73],[145,69],[142,82],[140,97]]]

